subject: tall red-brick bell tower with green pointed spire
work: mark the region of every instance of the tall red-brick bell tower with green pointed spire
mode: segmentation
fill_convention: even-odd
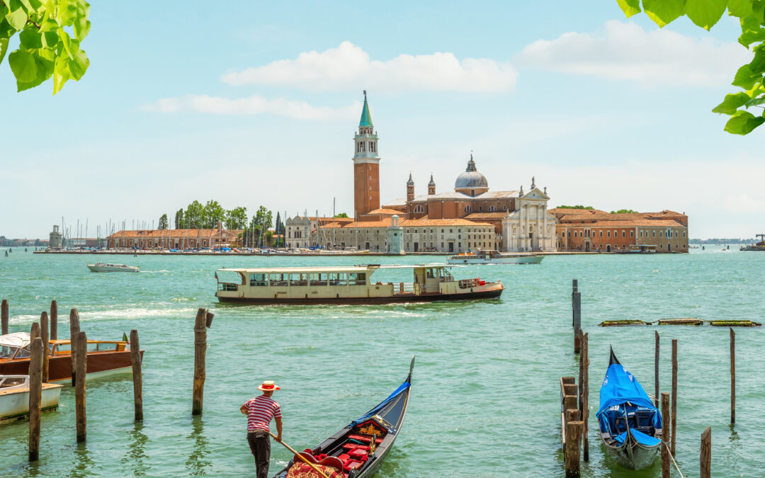
[[[372,115],[366,102],[361,110],[359,132],[353,136],[356,151],[353,154],[353,209],[355,215],[369,213],[380,206],[379,162],[377,135],[373,130]]]

